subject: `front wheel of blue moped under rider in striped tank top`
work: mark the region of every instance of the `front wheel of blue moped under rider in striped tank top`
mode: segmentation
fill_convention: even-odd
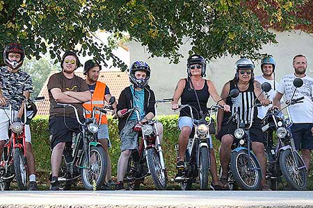
[[[258,190],[261,184],[261,168],[257,159],[250,155],[250,166],[248,166],[248,153],[246,150],[232,153],[230,157],[232,174],[239,187],[244,190]]]

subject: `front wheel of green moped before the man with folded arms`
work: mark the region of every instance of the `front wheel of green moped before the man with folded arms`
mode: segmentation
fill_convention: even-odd
[[[81,180],[85,189],[100,189],[106,178],[106,154],[101,146],[90,147],[89,166],[83,156]]]

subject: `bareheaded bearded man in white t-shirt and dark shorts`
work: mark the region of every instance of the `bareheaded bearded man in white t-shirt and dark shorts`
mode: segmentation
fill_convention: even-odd
[[[280,80],[278,92],[273,100],[273,107],[280,108],[280,99],[284,94],[290,100],[296,89],[293,85],[295,78],[303,80],[303,86],[294,94],[294,99],[304,96],[303,103],[289,106],[289,112],[294,124],[291,132],[297,150],[301,150],[307,168],[310,168],[311,150],[313,150],[313,78],[305,74],[307,58],[305,55],[296,55],[293,61],[294,73],[284,76]]]

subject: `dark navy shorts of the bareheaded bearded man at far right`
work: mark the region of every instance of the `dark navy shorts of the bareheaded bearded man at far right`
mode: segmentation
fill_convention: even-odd
[[[313,150],[312,126],[313,123],[294,123],[291,125],[296,150]]]

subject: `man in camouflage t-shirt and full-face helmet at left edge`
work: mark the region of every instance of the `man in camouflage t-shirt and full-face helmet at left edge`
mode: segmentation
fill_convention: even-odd
[[[3,51],[3,60],[6,67],[0,67],[0,158],[3,145],[8,138],[8,128],[10,114],[8,105],[12,106],[13,116],[15,119],[21,119],[24,112],[24,103],[22,96],[29,98],[33,92],[33,83],[31,76],[19,67],[24,61],[24,48],[21,44],[7,44]],[[35,158],[33,156],[33,148],[31,145],[31,130],[29,125],[25,125],[25,140],[27,164],[29,169],[29,190],[38,190],[35,182]]]

